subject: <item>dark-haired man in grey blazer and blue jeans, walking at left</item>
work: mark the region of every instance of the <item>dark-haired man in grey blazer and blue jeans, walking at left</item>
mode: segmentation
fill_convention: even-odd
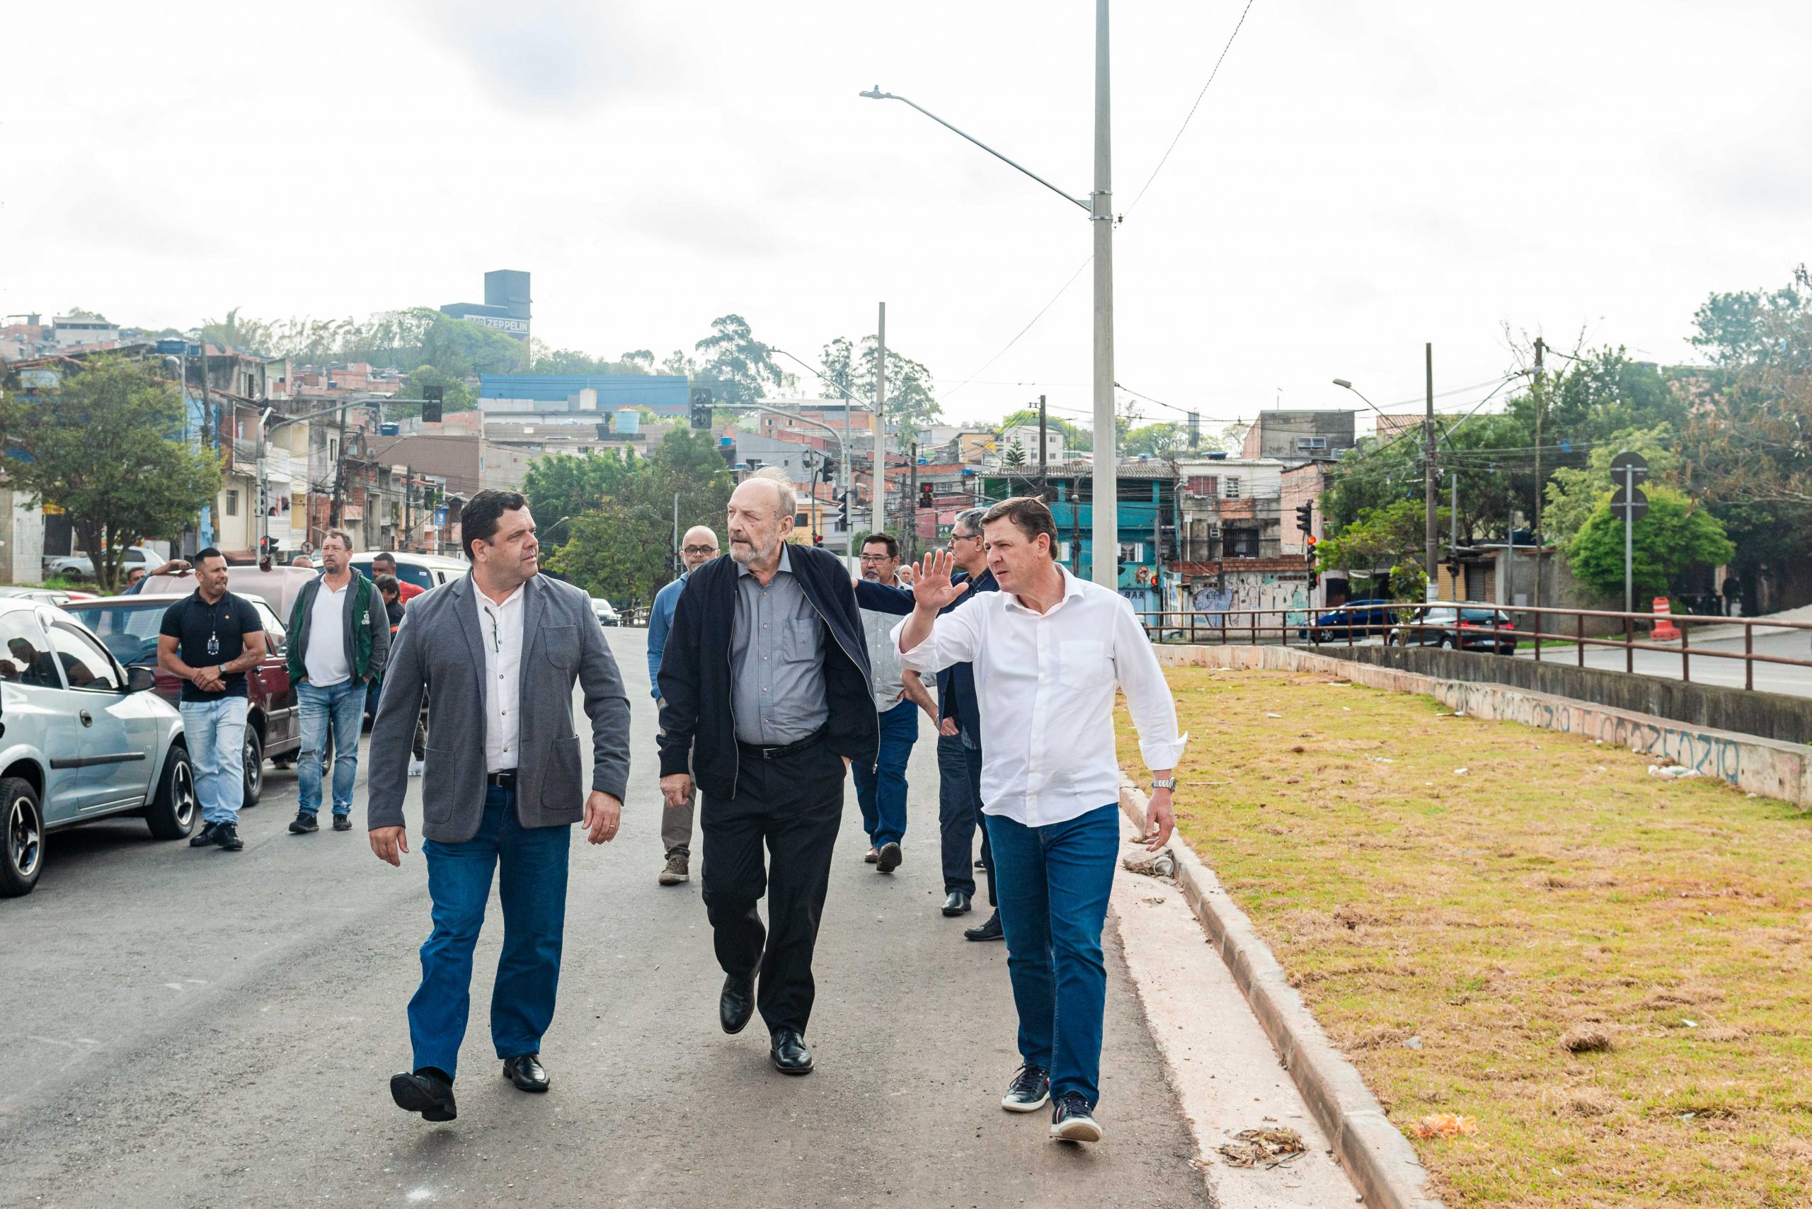
[[[371,852],[400,865],[415,718],[428,694],[422,845],[433,933],[410,1001],[415,1064],[390,1080],[397,1106],[453,1120],[453,1075],[471,1006],[471,953],[500,870],[504,952],[491,1042],[504,1077],[547,1091],[542,1035],[554,1015],[569,827],[616,836],[629,781],[629,698],[591,598],[536,575],[535,518],[515,491],[480,491],[460,513],[471,575],[410,602],[371,723]],[[591,794],[573,729],[573,683],[591,716]],[[582,807],[583,803],[583,807]]]

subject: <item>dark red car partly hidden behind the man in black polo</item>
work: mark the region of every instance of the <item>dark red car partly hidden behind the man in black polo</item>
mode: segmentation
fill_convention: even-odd
[[[255,571],[255,567],[254,567]],[[194,580],[190,578],[190,584]],[[94,631],[109,653],[127,667],[145,667],[158,682],[158,696],[172,705],[183,696],[183,682],[158,667],[158,629],[163,611],[183,595],[105,596],[78,600],[63,611]],[[246,672],[252,698],[245,718],[245,805],[255,807],[265,792],[265,761],[283,767],[295,763],[303,747],[303,711],[290,683],[284,618],[270,602],[245,596],[265,622],[265,662]]]

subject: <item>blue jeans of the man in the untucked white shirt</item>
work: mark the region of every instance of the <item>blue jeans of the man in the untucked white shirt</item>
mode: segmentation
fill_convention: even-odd
[[[1120,807],[1046,827],[989,814],[988,834],[1020,1057],[1051,1071],[1053,1100],[1080,1091],[1093,1107],[1102,1095],[1102,924],[1120,856]]]

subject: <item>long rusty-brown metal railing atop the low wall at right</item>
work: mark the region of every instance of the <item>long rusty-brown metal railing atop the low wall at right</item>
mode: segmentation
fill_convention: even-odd
[[[1486,611],[1493,616],[1508,616],[1509,625],[1479,625],[1479,624],[1431,624],[1426,620],[1430,609],[1475,609]],[[1564,643],[1573,647],[1575,658],[1580,667],[1586,667],[1586,647],[1616,647],[1624,651],[1624,671],[1636,671],[1636,651],[1662,651],[1667,654],[1680,656],[1680,678],[1687,683],[1692,682],[1692,660],[1741,660],[1743,662],[1743,687],[1756,687],[1756,663],[1776,663],[1783,667],[1812,667],[1812,658],[1792,658],[1785,654],[1758,654],[1756,653],[1756,629],[1765,629],[1769,633],[1805,633],[1812,638],[1812,622],[1770,622],[1767,618],[1747,618],[1747,616],[1700,616],[1691,613],[1613,613],[1609,609],[1549,609],[1535,605],[1497,605],[1489,602],[1475,600],[1433,600],[1426,604],[1397,604],[1390,605],[1386,613],[1388,620],[1354,620],[1354,622],[1330,622],[1323,620],[1330,613],[1339,609],[1207,609],[1207,611],[1174,611],[1174,613],[1140,613],[1140,624],[1145,627],[1145,634],[1152,642],[1189,642],[1189,643],[1283,643],[1283,645],[1305,645],[1305,647],[1325,647],[1325,645],[1345,645],[1352,647],[1361,638],[1383,636],[1384,642],[1393,645],[1451,645],[1464,651],[1470,640],[1488,638],[1484,643],[1491,651],[1499,651],[1506,642],[1511,649],[1517,643],[1529,640],[1533,649],[1531,654],[1537,662],[1542,660],[1542,642]],[[1364,613],[1379,613],[1379,609],[1364,609]],[[1528,614],[1533,618],[1529,627],[1517,625],[1517,616]],[[1171,618],[1176,618],[1172,624]],[[1573,633],[1560,633],[1558,629],[1549,629],[1547,618],[1562,618],[1564,624]],[[1609,618],[1620,622],[1622,636],[1602,638],[1586,634],[1586,618]],[[1653,633],[1647,640],[1638,640],[1640,627],[1654,627],[1656,622],[1665,620],[1680,629],[1680,638],[1654,638]],[[1743,649],[1741,651],[1716,651],[1709,647],[1692,647],[1692,627],[1741,627],[1743,631]],[[1413,634],[1413,642],[1412,642]],[[1439,634],[1430,642],[1431,634]],[[1734,634],[1729,634],[1734,636]],[[1720,636],[1721,640],[1723,636]],[[1701,642],[1705,642],[1701,638]]]

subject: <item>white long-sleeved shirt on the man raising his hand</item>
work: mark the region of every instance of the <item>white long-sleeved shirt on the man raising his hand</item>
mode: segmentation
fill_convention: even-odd
[[[1035,613],[1013,593],[980,593],[901,653],[908,669],[975,663],[982,810],[1026,827],[1065,823],[1120,801],[1114,689],[1127,694],[1149,769],[1174,769],[1187,734],[1132,605],[1062,564],[1064,596]],[[899,647],[906,622],[893,627]]]

